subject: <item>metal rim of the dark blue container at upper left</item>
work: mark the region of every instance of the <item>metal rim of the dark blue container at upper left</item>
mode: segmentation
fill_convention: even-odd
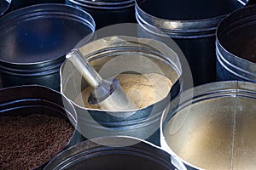
[[[6,30],[6,27],[13,26],[21,20],[33,20],[37,18],[49,17],[49,14],[55,14],[55,16],[66,16],[69,19],[73,19],[84,23],[85,26],[90,28],[90,37],[93,36],[93,32],[96,30],[96,23],[92,16],[80,8],[75,8],[71,5],[61,3],[39,3],[24,8],[18,8],[11,11],[9,14],[3,15],[0,19],[0,31]],[[84,18],[82,18],[84,17]],[[15,23],[14,23],[15,22]],[[0,33],[0,36],[4,34],[4,31]],[[9,65],[38,65],[46,64],[55,59],[61,59],[63,56],[55,57],[53,59],[35,61],[29,63],[10,62],[0,59],[0,62]]]

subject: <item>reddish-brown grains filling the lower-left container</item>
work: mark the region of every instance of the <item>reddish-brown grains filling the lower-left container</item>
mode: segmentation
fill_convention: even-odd
[[[0,169],[33,169],[61,151],[74,128],[44,114],[0,116]]]

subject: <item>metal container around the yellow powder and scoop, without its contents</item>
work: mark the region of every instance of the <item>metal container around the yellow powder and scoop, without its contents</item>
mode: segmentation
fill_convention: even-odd
[[[81,48],[101,77],[109,78],[122,72],[135,74],[159,73],[174,85],[165,99],[137,111],[103,111],[87,109],[73,100],[89,85],[70,62],[61,65],[61,94],[70,99],[78,113],[79,131],[87,139],[127,135],[160,144],[159,124],[162,111],[180,93],[181,67],[177,54],[163,43],[136,37],[106,37]],[[150,137],[150,138],[149,138]]]

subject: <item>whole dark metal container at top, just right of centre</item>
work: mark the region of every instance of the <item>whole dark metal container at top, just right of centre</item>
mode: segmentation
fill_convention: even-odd
[[[215,31],[226,14],[247,0],[136,0],[139,37],[172,38],[189,62],[195,85],[216,81]]]

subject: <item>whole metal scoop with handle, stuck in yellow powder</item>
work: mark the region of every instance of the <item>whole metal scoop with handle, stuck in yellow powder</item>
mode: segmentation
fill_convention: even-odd
[[[130,111],[137,109],[134,102],[129,99],[116,78],[103,80],[90,63],[83,59],[79,49],[71,50],[66,58],[79,71],[82,77],[93,88],[88,99],[90,105],[100,105],[103,110],[108,111]]]

